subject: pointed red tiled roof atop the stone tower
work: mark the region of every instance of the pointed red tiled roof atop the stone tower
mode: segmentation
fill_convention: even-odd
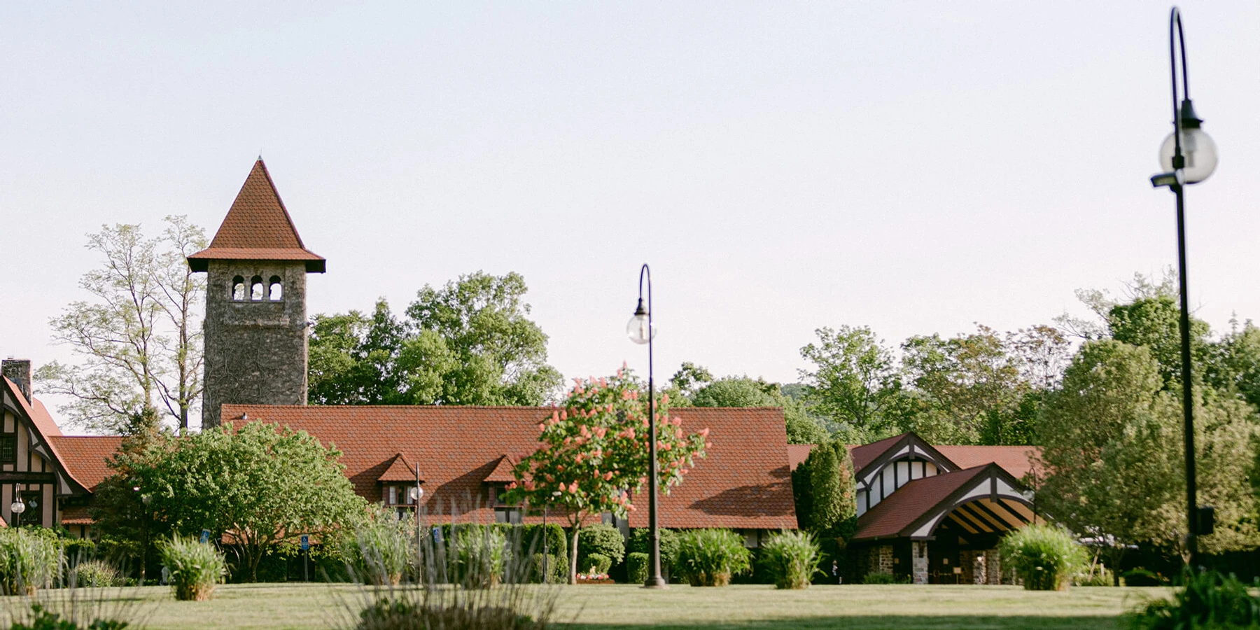
[[[307,272],[324,272],[324,258],[302,246],[262,158],[253,163],[210,247],[190,255],[188,266],[205,271],[209,261],[305,261]]]

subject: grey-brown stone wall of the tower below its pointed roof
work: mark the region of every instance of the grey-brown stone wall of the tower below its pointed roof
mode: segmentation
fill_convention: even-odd
[[[219,407],[306,404],[306,266],[286,261],[209,261],[205,290],[205,393],[202,427],[219,425]],[[233,299],[233,280],[244,284]],[[251,281],[262,281],[262,296]],[[270,299],[270,281],[282,292]]]

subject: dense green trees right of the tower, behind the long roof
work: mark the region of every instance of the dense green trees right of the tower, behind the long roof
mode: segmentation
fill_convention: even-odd
[[[519,273],[426,285],[397,319],[381,300],[316,315],[310,339],[312,404],[527,404],[551,399],[561,375],[547,335],[528,319]]]

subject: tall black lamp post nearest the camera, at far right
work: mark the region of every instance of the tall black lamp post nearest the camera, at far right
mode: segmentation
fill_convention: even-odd
[[[1179,47],[1177,44],[1181,44]],[[1181,52],[1183,101],[1177,100],[1177,53]],[[1186,34],[1181,10],[1173,6],[1168,18],[1168,57],[1173,83],[1173,132],[1159,147],[1159,164],[1166,169],[1150,178],[1155,188],[1168,186],[1177,197],[1177,262],[1181,280],[1181,358],[1182,408],[1186,432],[1186,548],[1191,570],[1198,568],[1198,536],[1211,528],[1211,508],[1200,508],[1194,488],[1194,398],[1189,354],[1189,291],[1186,280],[1186,185],[1198,184],[1216,170],[1216,142],[1201,129],[1189,100],[1189,77],[1186,72]],[[1202,522],[1201,522],[1202,515]]]

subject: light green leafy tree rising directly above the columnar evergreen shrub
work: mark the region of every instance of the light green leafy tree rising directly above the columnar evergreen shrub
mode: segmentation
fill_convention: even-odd
[[[901,374],[892,350],[866,326],[820,328],[816,344],[800,349],[814,369],[800,370],[814,408],[866,436],[893,428],[900,413]]]

